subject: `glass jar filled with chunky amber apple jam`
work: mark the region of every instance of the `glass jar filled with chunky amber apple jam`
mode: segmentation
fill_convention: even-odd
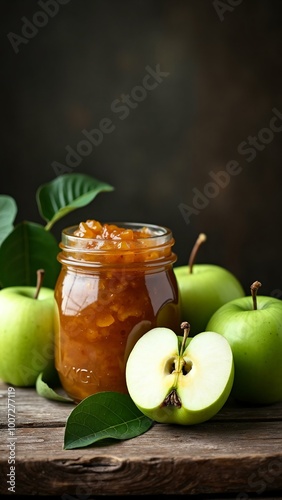
[[[166,227],[89,220],[62,232],[55,287],[55,362],[79,402],[101,391],[127,393],[125,364],[146,331],[178,331],[174,239]]]

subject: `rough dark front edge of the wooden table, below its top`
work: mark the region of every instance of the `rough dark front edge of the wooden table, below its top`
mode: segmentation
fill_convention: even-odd
[[[88,462],[77,460],[42,461],[17,467],[16,493],[29,495],[71,495],[84,498],[94,495],[205,495],[237,493],[240,499],[248,494],[281,491],[281,478],[269,475],[272,462],[251,464],[244,459],[195,460],[187,464],[171,458],[150,460],[104,457]],[[273,482],[275,481],[275,484]],[[1,493],[4,491],[1,485]],[[94,496],[95,498],[95,496]]]

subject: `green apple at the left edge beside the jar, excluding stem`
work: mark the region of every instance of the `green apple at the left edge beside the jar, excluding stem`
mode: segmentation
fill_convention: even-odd
[[[54,366],[54,290],[13,286],[0,291],[0,378],[18,387],[35,386]]]

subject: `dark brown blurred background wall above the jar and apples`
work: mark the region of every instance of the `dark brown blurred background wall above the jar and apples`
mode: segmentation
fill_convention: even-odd
[[[54,234],[87,218],[166,225],[182,265],[206,232],[198,262],[227,267],[247,293],[258,279],[262,295],[281,298],[282,132],[265,131],[273,108],[282,125],[281,2],[63,3],[42,0],[57,10],[44,20],[39,1],[1,2],[1,194],[15,198],[17,220],[43,223],[36,189],[58,175],[55,161],[66,166],[66,147],[76,150],[83,129],[109,118],[114,130],[72,171],[115,190]],[[45,25],[27,43],[17,38],[16,53],[11,33],[23,36],[23,18]],[[169,74],[144,97],[135,87],[157,65]],[[122,120],[112,106],[126,94],[139,101]],[[264,143],[251,155],[247,143],[258,133]],[[211,172],[226,172],[231,160],[237,175],[210,185]],[[196,193],[205,198],[189,216]]]

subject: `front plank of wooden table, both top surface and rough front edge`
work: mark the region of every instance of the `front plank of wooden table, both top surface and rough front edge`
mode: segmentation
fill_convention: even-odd
[[[26,494],[196,494],[282,490],[278,422],[207,422],[191,428],[156,424],[113,445],[63,450],[63,428],[16,432],[16,483]],[[1,431],[1,476],[8,471]],[[0,492],[5,493],[2,482]],[[85,491],[85,490],[84,490]]]

